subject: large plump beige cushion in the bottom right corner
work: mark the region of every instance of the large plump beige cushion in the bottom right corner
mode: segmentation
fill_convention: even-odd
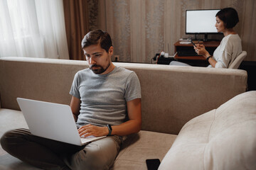
[[[256,91],[188,121],[159,169],[256,169]]]

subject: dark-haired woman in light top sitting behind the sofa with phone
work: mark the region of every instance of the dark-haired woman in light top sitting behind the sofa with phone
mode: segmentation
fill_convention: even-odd
[[[220,45],[213,52],[213,56],[209,54],[206,47],[197,44],[194,49],[198,55],[202,55],[210,63],[208,67],[228,68],[242,52],[242,43],[238,33],[233,29],[238,23],[238,13],[234,8],[223,8],[216,14],[215,27],[218,33],[223,33],[225,36],[221,40]],[[171,62],[170,65],[184,65]]]

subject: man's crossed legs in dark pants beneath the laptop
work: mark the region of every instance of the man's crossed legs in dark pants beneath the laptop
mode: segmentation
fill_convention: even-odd
[[[26,129],[10,130],[1,137],[6,152],[41,169],[109,169],[122,137],[111,136],[85,147],[31,135]]]

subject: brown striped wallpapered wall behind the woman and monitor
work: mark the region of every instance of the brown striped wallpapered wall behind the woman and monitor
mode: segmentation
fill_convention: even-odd
[[[92,1],[92,0],[88,0]],[[150,63],[156,52],[174,54],[174,43],[185,35],[186,9],[233,7],[240,22],[235,30],[247,51],[246,61],[256,61],[256,2],[254,0],[98,0],[95,28],[107,30],[114,55],[123,62]],[[219,39],[223,36],[217,35]],[[199,37],[200,38],[200,37]],[[212,38],[215,38],[213,35]]]

